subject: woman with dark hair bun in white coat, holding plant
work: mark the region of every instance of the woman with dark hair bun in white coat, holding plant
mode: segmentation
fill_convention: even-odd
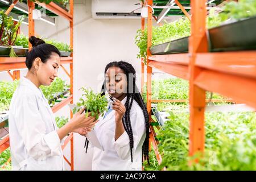
[[[85,118],[84,109],[60,129],[40,85],[57,77],[60,52],[44,40],[31,36],[32,49],[26,55],[27,75],[20,78],[10,104],[9,131],[14,170],[64,170],[61,143],[71,132],[85,135],[95,117]],[[87,130],[86,130],[87,128]]]

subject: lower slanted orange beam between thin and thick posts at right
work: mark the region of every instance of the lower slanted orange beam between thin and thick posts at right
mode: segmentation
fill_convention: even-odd
[[[170,63],[160,63],[158,61],[149,61],[148,67],[154,67],[163,72],[169,73],[171,75],[188,80],[188,66]]]

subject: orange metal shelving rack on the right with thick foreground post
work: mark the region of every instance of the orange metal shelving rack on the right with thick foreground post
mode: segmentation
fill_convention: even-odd
[[[178,1],[175,1],[178,5]],[[205,92],[216,92],[232,102],[244,103],[256,109],[256,51],[236,52],[208,52],[206,30],[207,9],[206,0],[191,1],[191,36],[189,38],[189,52],[170,55],[151,55],[149,48],[152,43],[152,9],[148,7],[147,18],[147,110],[151,116],[151,102],[167,102],[171,100],[152,100],[151,76],[152,68],[169,73],[189,81],[189,155],[204,152],[204,111]],[[148,0],[147,5],[152,6]],[[179,7],[182,6],[179,4]],[[190,16],[186,15],[188,18]],[[144,30],[144,18],[142,18]],[[144,63],[142,60],[142,88],[144,85]],[[142,90],[143,91],[143,90]],[[230,100],[227,100],[230,101]],[[150,117],[150,122],[152,118]],[[150,127],[150,139],[156,158],[160,163],[155,139],[154,127]]]

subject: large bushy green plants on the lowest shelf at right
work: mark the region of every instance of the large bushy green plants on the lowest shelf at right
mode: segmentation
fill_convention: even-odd
[[[255,170],[256,114],[207,113],[205,154],[199,163],[188,166],[188,114],[170,113],[170,121],[160,131],[159,151],[169,170]]]

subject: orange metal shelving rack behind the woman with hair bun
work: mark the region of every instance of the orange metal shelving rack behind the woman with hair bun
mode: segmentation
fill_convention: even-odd
[[[6,14],[9,14],[10,11],[14,8],[14,5],[18,2],[18,0],[15,0],[9,7],[9,9],[6,10]],[[69,0],[69,12],[61,9],[59,6],[57,6],[55,3],[51,2],[48,5],[44,3],[38,3],[40,6],[45,7],[47,10],[52,11],[52,13],[55,13],[69,21],[69,27],[70,27],[70,47],[73,50],[73,0]],[[35,35],[35,22],[32,19],[32,10],[35,9],[35,3],[28,0],[28,36]],[[31,48],[31,44],[29,44],[29,48]],[[70,73],[63,67],[63,64],[69,64]],[[25,57],[0,57],[0,72],[7,71],[9,75],[15,79],[19,79],[20,74],[19,70],[17,69],[23,69],[26,68],[25,64]],[[53,113],[56,113],[56,111],[60,110],[62,107],[69,103],[73,103],[73,53],[70,57],[61,57],[61,68],[64,69],[64,72],[67,73],[68,77],[70,78],[70,96],[65,98],[63,101],[59,102],[58,104],[54,105],[52,107]],[[13,74],[10,73],[11,70],[14,70]],[[71,111],[71,118],[73,117],[72,111]],[[74,170],[74,155],[73,155],[73,133],[69,134],[69,137],[65,140],[64,145],[62,146],[62,149],[67,146],[67,144],[71,142],[71,160],[69,161],[67,158],[64,159],[71,167],[71,171]],[[9,144],[9,135],[7,135],[5,138],[0,140],[0,153],[5,151],[7,148],[10,147]]]

